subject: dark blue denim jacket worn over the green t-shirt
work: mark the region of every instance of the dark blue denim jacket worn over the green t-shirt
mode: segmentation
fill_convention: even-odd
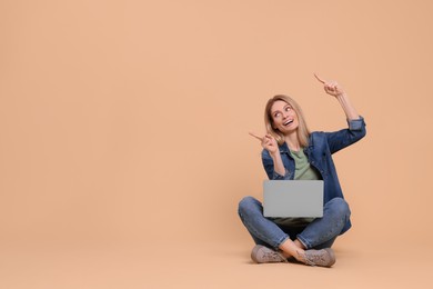
[[[362,117],[348,121],[348,129],[335,132],[312,132],[310,134],[309,146],[304,148],[310,165],[320,172],[324,181],[323,205],[333,198],[344,198],[332,160],[332,153],[359,141],[366,133],[365,122]],[[281,176],[274,171],[273,160],[268,150],[262,151],[264,170],[271,180],[293,180],[295,163],[285,142],[280,146],[280,153],[285,167],[285,175]],[[341,233],[344,233],[350,228],[351,221],[349,219]]]

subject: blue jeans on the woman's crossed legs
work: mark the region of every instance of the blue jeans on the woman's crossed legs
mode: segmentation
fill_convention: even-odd
[[[256,245],[279,248],[281,243],[298,239],[306,249],[331,248],[343,230],[351,211],[342,198],[333,198],[323,207],[323,217],[305,227],[284,227],[272,218],[263,217],[263,207],[253,197],[245,197],[239,203],[239,216]]]

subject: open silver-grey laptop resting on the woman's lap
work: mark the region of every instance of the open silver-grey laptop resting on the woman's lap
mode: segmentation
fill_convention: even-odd
[[[323,180],[263,181],[263,216],[323,217]]]

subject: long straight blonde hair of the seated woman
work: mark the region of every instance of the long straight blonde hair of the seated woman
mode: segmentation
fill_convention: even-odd
[[[289,106],[292,107],[292,109],[298,114],[299,126],[298,126],[298,140],[302,148],[305,148],[309,146],[309,138],[310,138],[310,130],[306,127],[305,118],[302,113],[301,107],[294,101],[292,98],[284,96],[284,94],[278,94],[268,100],[266,107],[264,109],[264,126],[266,127],[268,133],[270,133],[272,137],[275,138],[279,146],[284,143],[284,134],[281,133],[279,130],[275,130],[273,128],[273,119],[271,113],[271,108],[273,103],[278,100],[284,101]]]

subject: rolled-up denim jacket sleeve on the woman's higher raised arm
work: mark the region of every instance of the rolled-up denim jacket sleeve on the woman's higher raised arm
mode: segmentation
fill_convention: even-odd
[[[325,132],[328,146],[331,153],[334,153],[352,143],[355,143],[366,134],[365,121],[360,119],[348,121],[349,128],[335,132]]]

